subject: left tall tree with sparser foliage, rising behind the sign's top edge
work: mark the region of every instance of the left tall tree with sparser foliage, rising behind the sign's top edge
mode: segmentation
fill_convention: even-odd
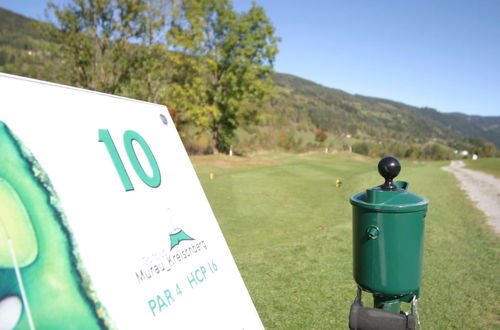
[[[161,0],[50,2],[47,13],[57,28],[49,32],[62,45],[72,83],[111,94],[126,90],[134,70],[144,67],[141,42],[153,46],[154,31],[164,26],[162,6]],[[153,14],[158,16],[152,21]]]

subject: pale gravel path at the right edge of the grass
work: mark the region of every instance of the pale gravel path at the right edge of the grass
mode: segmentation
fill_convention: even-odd
[[[500,179],[465,168],[465,163],[457,160],[441,169],[455,175],[460,188],[476,203],[477,208],[484,212],[488,224],[500,235]]]

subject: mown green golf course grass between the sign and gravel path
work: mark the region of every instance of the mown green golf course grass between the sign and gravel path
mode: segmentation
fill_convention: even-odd
[[[266,329],[346,329],[356,294],[348,198],[381,183],[377,160],[268,153],[193,162]],[[422,325],[500,329],[500,240],[444,164],[403,162],[398,177],[430,200]]]

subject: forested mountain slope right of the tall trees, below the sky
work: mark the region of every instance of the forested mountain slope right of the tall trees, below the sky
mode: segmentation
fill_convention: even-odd
[[[431,108],[353,95],[290,74],[276,73],[273,79],[279,91],[273,101],[274,111],[283,113],[289,109],[291,121],[302,118],[327,132],[374,141],[439,140],[454,147],[458,147],[460,141],[475,137],[500,148],[500,117],[441,113]]]

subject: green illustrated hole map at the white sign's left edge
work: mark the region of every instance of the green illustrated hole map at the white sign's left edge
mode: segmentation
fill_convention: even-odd
[[[0,305],[19,301],[21,312],[0,313],[0,323],[8,320],[15,329],[110,327],[47,174],[0,121]]]

